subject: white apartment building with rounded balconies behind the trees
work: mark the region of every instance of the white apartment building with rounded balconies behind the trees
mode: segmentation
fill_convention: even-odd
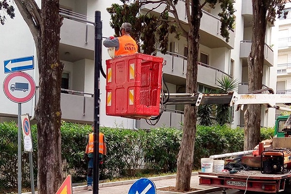
[[[36,0],[40,4],[40,0]],[[220,7],[215,9],[205,6],[200,26],[200,49],[198,64],[198,90],[203,88],[216,88],[217,80],[229,76],[240,82],[239,93],[247,93],[247,57],[251,48],[252,35],[252,6],[251,0],[233,0],[236,9],[235,29],[229,31],[230,39],[226,42],[220,35]],[[119,0],[60,0],[60,15],[64,17],[61,27],[60,59],[65,64],[62,79],[61,108],[62,119],[76,123],[93,123],[94,112],[94,15],[101,11],[103,21],[103,36],[113,35],[110,27],[110,15],[106,11],[112,3],[121,3]],[[148,4],[141,8],[141,13],[147,12],[155,5]],[[186,22],[185,2],[178,1],[176,6],[179,18]],[[162,12],[162,8],[155,10]],[[171,15],[170,15],[171,16]],[[19,30],[13,30],[17,26]],[[265,62],[263,83],[271,88],[276,87],[272,80],[276,79],[274,61],[276,56],[272,45],[271,33],[273,29],[269,24],[266,32]],[[8,19],[0,29],[0,42],[3,43],[3,52],[0,53],[2,61],[23,56],[35,56],[35,68],[26,71],[38,85],[38,69],[36,51],[31,32],[16,9],[16,17]],[[187,42],[185,37],[180,40],[174,35],[169,38],[168,52],[158,56],[166,60],[163,66],[164,80],[170,93],[184,93],[186,83]],[[275,48],[275,47],[274,47]],[[105,60],[109,59],[107,49],[102,50],[102,66],[105,69]],[[0,66],[0,81],[7,74]],[[132,120],[121,117],[107,116],[105,113],[106,79],[100,79],[100,125],[107,127],[120,127],[127,129],[150,128],[144,119]],[[38,89],[36,90],[38,91]],[[0,92],[0,122],[16,119],[17,104],[10,101],[3,92]],[[22,113],[29,113],[34,118],[34,107],[37,103],[38,92],[29,102],[22,104]],[[232,127],[243,125],[242,112],[233,113]],[[183,106],[168,105],[156,126],[180,127],[183,122]],[[262,108],[262,126],[273,126],[275,111]]]

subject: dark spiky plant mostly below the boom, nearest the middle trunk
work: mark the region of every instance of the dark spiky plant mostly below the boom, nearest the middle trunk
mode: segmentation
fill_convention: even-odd
[[[211,90],[205,89],[203,93],[210,93]],[[213,118],[214,118],[214,111],[213,105],[211,104],[204,104],[198,106],[197,116],[199,118],[199,125],[203,126],[212,126],[213,125]]]

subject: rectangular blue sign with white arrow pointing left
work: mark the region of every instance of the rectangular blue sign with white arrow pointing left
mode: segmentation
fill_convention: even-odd
[[[4,61],[4,73],[34,69],[33,56]]]

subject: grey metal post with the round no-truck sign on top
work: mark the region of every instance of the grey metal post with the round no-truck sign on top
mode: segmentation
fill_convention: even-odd
[[[4,62],[5,66],[5,62]],[[32,77],[24,72],[10,73],[3,82],[3,91],[11,101],[18,103],[18,194],[21,194],[21,103],[27,102],[35,94]],[[30,127],[29,127],[30,131]],[[31,146],[32,147],[32,146]],[[32,179],[33,180],[33,179]]]

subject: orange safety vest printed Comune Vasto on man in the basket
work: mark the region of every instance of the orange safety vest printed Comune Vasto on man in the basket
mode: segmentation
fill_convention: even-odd
[[[137,53],[137,44],[129,35],[118,37],[119,49],[115,50],[115,56]]]

